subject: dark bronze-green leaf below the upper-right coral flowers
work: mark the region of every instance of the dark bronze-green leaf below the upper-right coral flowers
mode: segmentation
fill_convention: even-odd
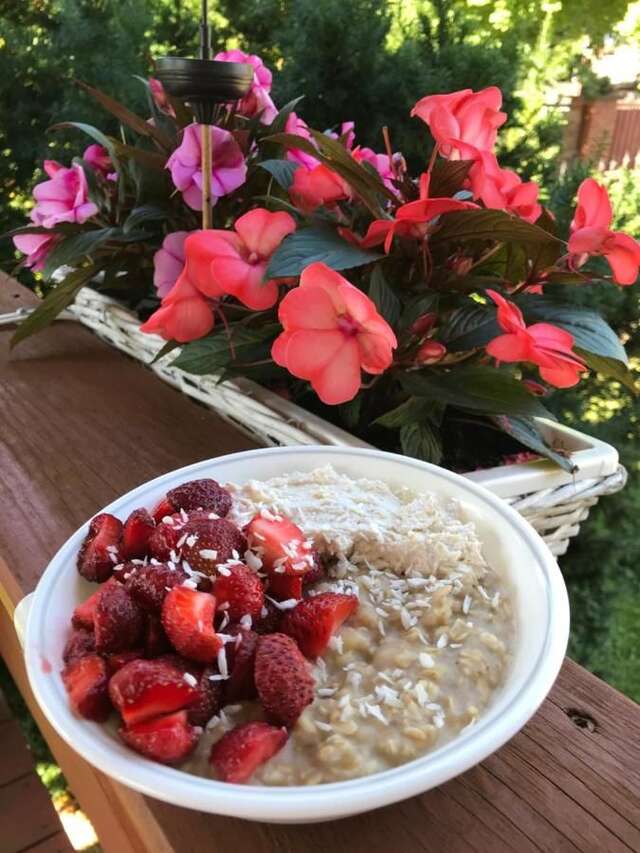
[[[516,243],[541,245],[552,243],[558,255],[562,243],[543,228],[511,216],[504,210],[457,210],[442,215],[442,225],[431,238],[433,243],[464,242],[469,240],[507,240]]]

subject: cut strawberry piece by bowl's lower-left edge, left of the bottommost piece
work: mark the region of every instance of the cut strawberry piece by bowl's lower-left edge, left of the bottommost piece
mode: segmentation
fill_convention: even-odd
[[[200,732],[187,722],[187,712],[178,711],[118,730],[122,740],[145,758],[161,764],[179,764],[193,752]]]

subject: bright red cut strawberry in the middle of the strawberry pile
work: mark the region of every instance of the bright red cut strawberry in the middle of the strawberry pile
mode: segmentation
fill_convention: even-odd
[[[202,663],[214,661],[222,648],[213,627],[215,612],[213,595],[174,586],[162,605],[162,626],[176,651]]]

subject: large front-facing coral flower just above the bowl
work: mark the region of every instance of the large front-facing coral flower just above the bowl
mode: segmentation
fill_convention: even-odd
[[[383,373],[393,361],[396,336],[361,290],[326,264],[310,264],[300,286],[280,303],[284,331],[271,355],[299,379],[307,379],[323,403],[352,400],[361,370]]]

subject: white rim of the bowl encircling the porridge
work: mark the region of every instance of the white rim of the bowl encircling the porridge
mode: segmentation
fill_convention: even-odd
[[[423,793],[487,758],[525,725],[551,689],[562,666],[569,637],[569,601],[560,569],[542,538],[528,522],[503,500],[460,474],[412,457],[376,449],[327,445],[259,448],[213,457],[166,472],[121,495],[100,512],[117,513],[120,504],[134,498],[144,505],[145,494],[157,490],[165,480],[178,475],[193,479],[200,471],[211,469],[212,465],[223,467],[252,456],[306,454],[326,455],[327,464],[330,464],[332,455],[343,455],[383,458],[398,466],[422,468],[436,477],[463,485],[468,493],[490,504],[505,522],[517,529],[523,544],[531,550],[544,572],[546,587],[548,631],[528,682],[511,698],[500,717],[493,720],[480,718],[471,729],[421,758],[348,781],[287,787],[235,785],[195,776],[133,753],[131,757],[128,753],[125,757],[94,738],[93,726],[98,724],[74,717],[68,708],[61,712],[53,693],[52,679],[43,677],[42,672],[42,650],[46,649],[43,636],[46,601],[49,592],[62,579],[57,568],[75,557],[86,532],[85,523],[57,551],[34,591],[25,633],[26,666],[36,700],[58,734],[90,764],[123,785],[174,805],[252,820],[282,823],[317,821],[371,811]],[[425,775],[428,775],[428,785],[425,785]],[[348,805],[354,801],[366,803],[366,806]]]

